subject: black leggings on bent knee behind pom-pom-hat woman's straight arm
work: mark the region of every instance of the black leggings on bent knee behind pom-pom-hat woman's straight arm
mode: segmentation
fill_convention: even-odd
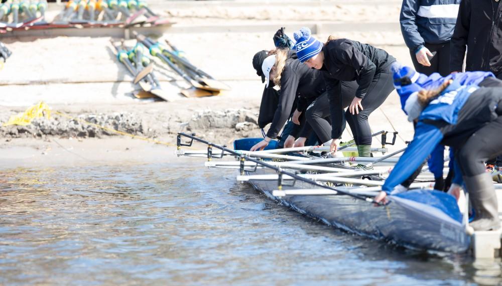
[[[354,98],[353,92],[347,92],[349,88],[341,86],[342,108],[347,107]],[[331,139],[331,119],[329,112],[328,92],[323,93],[316,98],[312,104],[307,107],[306,119],[310,124],[317,137],[321,140],[321,144]],[[345,129],[345,118],[342,119],[342,130]]]

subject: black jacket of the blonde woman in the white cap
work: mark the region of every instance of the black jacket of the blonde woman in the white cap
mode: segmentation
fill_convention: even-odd
[[[326,85],[320,71],[308,68],[297,59],[287,59],[281,76],[281,91],[277,108],[267,137],[276,138],[295,108],[298,111],[305,111],[308,105],[325,90]],[[297,97],[298,104],[295,106]],[[261,111],[262,108],[260,108]],[[296,124],[295,127],[297,127]],[[298,131],[296,130],[293,135]]]

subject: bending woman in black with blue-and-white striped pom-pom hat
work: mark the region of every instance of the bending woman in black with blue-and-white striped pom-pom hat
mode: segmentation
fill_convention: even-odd
[[[345,117],[359,156],[369,157],[372,137],[368,117],[394,90],[391,65],[396,59],[384,50],[348,39],[330,37],[323,45],[310,34],[308,28],[295,33],[295,48],[298,60],[323,72],[333,123],[330,150],[336,152],[343,131],[339,124],[343,122],[344,111],[336,91],[340,82],[355,80],[358,87]]]

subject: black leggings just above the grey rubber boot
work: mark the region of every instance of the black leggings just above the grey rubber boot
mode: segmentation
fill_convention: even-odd
[[[484,162],[489,158],[502,155],[501,141],[502,116],[498,116],[474,132],[455,152],[455,161],[458,162],[462,175],[471,177],[484,173]]]

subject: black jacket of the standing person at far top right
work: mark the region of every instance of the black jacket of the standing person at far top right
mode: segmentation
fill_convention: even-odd
[[[498,6],[498,7],[497,7]],[[493,0],[462,0],[451,37],[450,71],[502,72],[502,6]]]

